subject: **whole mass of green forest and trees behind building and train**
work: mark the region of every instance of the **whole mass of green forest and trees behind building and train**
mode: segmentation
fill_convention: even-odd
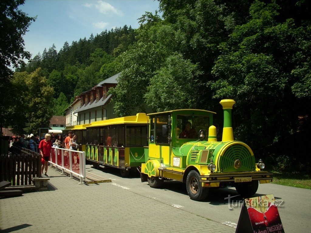
[[[139,29],[124,26],[37,54],[13,75],[16,90],[22,74],[45,77],[54,90],[53,114],[62,115],[75,95],[122,72],[109,91],[117,115],[137,106],[208,109],[218,113],[220,130],[219,101],[232,98],[235,138],[257,159],[310,172],[310,1],[159,4],[162,16],[146,12]]]

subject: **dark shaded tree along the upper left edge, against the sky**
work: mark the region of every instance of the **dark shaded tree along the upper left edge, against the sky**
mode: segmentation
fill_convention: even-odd
[[[7,108],[11,102],[10,80],[13,73],[9,68],[21,66],[23,59],[29,59],[30,53],[24,49],[23,35],[35,17],[29,17],[26,13],[18,10],[18,6],[24,4],[24,0],[3,0],[0,2],[0,131],[2,124],[7,126]]]

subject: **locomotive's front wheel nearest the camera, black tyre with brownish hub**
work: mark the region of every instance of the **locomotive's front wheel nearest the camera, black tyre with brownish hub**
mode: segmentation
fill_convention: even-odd
[[[190,199],[195,201],[202,201],[208,195],[209,189],[202,187],[200,183],[200,176],[197,171],[190,171],[186,181],[187,193]]]

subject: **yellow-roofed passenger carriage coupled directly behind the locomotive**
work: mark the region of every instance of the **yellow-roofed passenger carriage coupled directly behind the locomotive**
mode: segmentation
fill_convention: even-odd
[[[115,167],[126,177],[145,162],[149,117],[145,113],[92,122],[86,127],[86,159]]]

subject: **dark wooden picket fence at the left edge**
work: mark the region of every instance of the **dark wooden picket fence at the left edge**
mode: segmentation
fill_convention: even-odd
[[[12,146],[10,152],[0,156],[0,181],[31,185],[33,177],[41,176],[41,154],[18,146]]]

